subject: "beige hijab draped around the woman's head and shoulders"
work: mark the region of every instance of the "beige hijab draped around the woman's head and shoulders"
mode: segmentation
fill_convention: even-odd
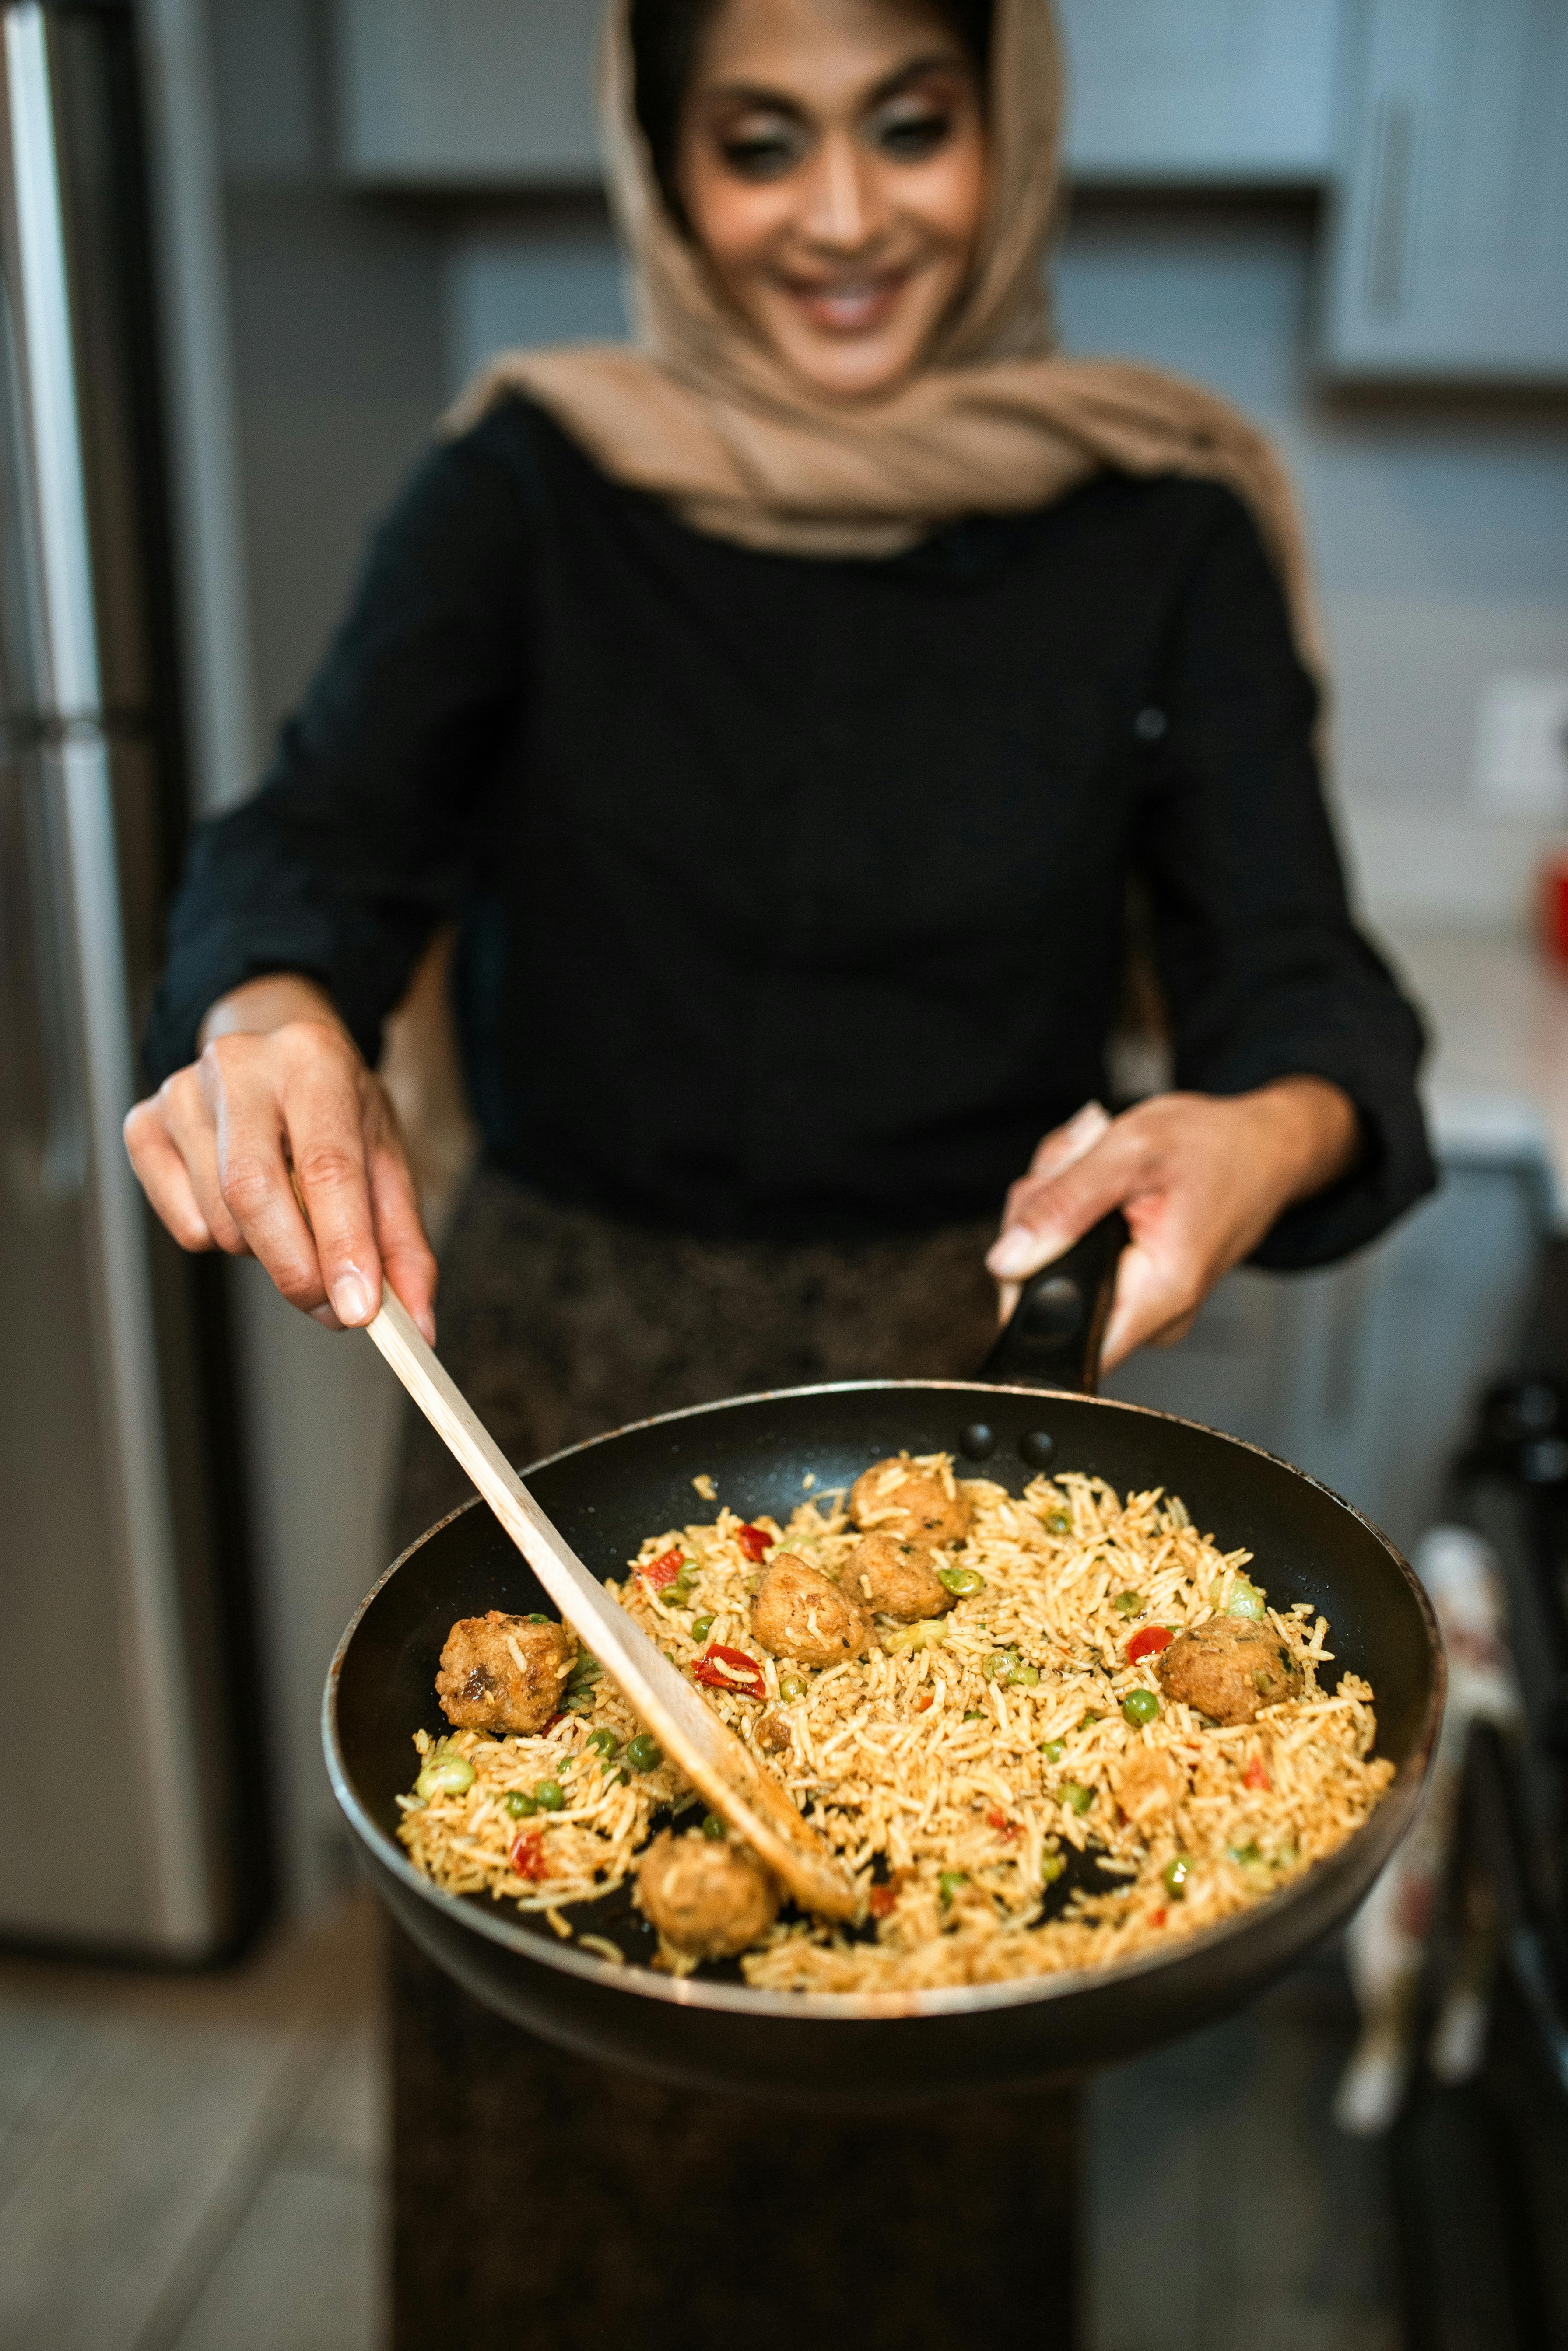
[[[795,555],[891,555],[961,515],[1048,505],[1105,468],[1201,475],[1258,517],[1314,656],[1300,513],[1265,435],[1180,376],[1053,355],[1044,266],[1060,101],[1051,0],[997,0],[992,197],[973,277],[910,383],[884,400],[832,402],[724,308],[672,223],[632,106],[628,0],[611,0],[599,113],[637,341],[501,353],[447,428],[527,393],[614,480],[665,498],[701,531]]]

